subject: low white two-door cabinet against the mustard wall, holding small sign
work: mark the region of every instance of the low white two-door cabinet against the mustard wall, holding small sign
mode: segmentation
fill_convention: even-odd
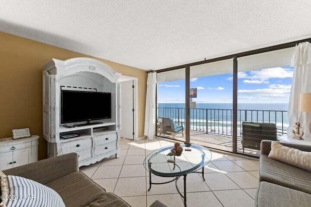
[[[37,161],[38,139],[36,135],[17,140],[11,137],[0,139],[0,170]]]

